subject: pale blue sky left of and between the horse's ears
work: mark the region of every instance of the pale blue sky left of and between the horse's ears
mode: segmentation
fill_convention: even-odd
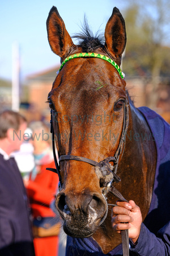
[[[122,3],[124,2],[124,3]],[[0,3],[0,77],[11,79],[12,43],[20,47],[21,75],[43,71],[59,63],[49,47],[46,18],[51,7],[57,7],[70,35],[79,31],[84,13],[92,30],[105,25],[116,6],[123,12],[126,1],[114,0],[6,0]]]

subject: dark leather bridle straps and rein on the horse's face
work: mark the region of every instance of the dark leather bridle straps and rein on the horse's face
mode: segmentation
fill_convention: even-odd
[[[81,54],[83,54],[83,53],[81,53]],[[103,55],[101,55],[101,56],[103,56]],[[70,56],[70,57],[72,57],[71,59],[74,59],[73,56]],[[87,57],[87,56],[79,56],[79,57]],[[90,57],[90,56],[88,56],[88,57]],[[91,56],[91,57],[97,57],[97,56]],[[104,56],[104,57],[106,57],[106,56]],[[103,57],[102,58],[100,57],[100,59],[103,59]],[[62,65],[61,65],[61,68],[63,67],[63,65],[68,60],[70,60],[69,57],[67,57],[66,60],[63,61]],[[61,70],[61,68],[59,69],[59,71]],[[88,159],[88,158],[84,158],[83,156],[75,156],[75,155],[61,155],[61,156],[59,156],[59,154],[58,154],[59,161],[57,161],[56,148],[55,148],[55,134],[54,134],[54,129],[53,129],[53,110],[51,110],[50,114],[51,114],[50,133],[52,133],[53,156],[54,156],[54,163],[56,165],[56,168],[46,168],[46,170],[49,170],[49,171],[52,171],[52,172],[55,172],[56,174],[58,174],[58,177],[59,177],[58,189],[59,189],[59,191],[62,190],[62,177],[61,177],[61,173],[60,173],[60,162],[62,162],[64,160],[76,160],[76,161],[80,161],[80,162],[86,162],[86,163],[90,164],[91,166],[98,167],[99,170],[101,171],[101,174],[102,174],[103,177],[105,177],[105,176],[107,176],[109,174],[113,175],[112,180],[109,181],[105,185],[105,187],[103,188],[103,196],[104,196],[104,199],[106,200],[106,202],[107,202],[107,197],[106,196],[107,196],[107,194],[109,192],[111,192],[119,200],[128,202],[121,195],[121,193],[116,188],[114,188],[113,185],[112,185],[114,181],[116,183],[121,181],[120,177],[118,177],[118,175],[117,175],[117,168],[118,168],[118,163],[119,163],[120,155],[124,154],[125,141],[126,141],[126,133],[128,131],[128,126],[129,126],[129,103],[128,103],[128,99],[126,98],[126,100],[124,102],[124,121],[123,121],[123,127],[122,127],[122,134],[121,134],[120,142],[118,144],[116,153],[114,154],[114,156],[109,156],[108,158],[105,158],[104,160],[101,160],[100,162],[96,162],[94,160],[91,160],[91,159]],[[113,162],[113,166],[111,166],[110,162]],[[104,214],[103,219],[100,221],[100,225],[104,222],[105,218],[107,217],[108,205],[116,206],[114,204],[108,204],[107,203],[107,210],[106,210],[106,212]],[[124,256],[129,256],[129,236],[128,236],[128,230],[121,230],[121,236],[122,236],[123,255]]]

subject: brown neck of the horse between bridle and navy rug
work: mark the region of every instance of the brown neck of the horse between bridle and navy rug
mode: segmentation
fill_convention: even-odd
[[[130,104],[129,129],[118,172],[124,197],[135,200],[142,209],[143,217],[151,203],[155,169],[156,146],[152,132],[142,113]]]

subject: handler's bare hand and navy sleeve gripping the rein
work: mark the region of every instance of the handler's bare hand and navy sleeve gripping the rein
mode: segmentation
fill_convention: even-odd
[[[112,209],[112,226],[118,233],[129,229],[130,251],[133,255],[170,255],[170,220],[155,236],[143,224],[141,210],[133,200],[129,203],[118,201],[117,205]]]

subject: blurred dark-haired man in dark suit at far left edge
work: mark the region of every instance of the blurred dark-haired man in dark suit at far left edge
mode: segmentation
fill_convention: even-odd
[[[0,114],[0,255],[34,256],[27,193],[12,151],[19,150],[27,127],[19,113]]]

